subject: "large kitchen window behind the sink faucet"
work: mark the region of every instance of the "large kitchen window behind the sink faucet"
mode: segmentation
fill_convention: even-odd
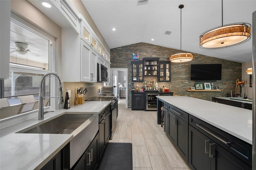
[[[42,76],[55,70],[54,42],[55,39],[44,31],[11,14],[10,72],[8,79],[1,80],[1,98],[7,98],[10,106],[22,103],[20,98],[28,95],[34,96],[37,102]],[[46,77],[44,96],[55,96],[55,86],[55,77]],[[45,102],[45,107],[51,106],[49,101],[48,99],[48,102]],[[37,109],[38,107],[33,107],[24,111],[23,108],[21,113]]]

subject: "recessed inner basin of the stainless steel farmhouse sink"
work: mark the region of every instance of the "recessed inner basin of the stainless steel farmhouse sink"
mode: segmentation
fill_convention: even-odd
[[[66,113],[50,121],[38,125],[28,131],[18,133],[71,134],[94,114]]]

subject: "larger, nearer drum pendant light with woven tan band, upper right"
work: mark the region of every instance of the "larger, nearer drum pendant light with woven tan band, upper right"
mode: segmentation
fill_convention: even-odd
[[[200,48],[219,49],[242,44],[250,39],[251,25],[249,23],[232,23],[223,25],[223,0],[222,26],[210,29],[200,35]]]

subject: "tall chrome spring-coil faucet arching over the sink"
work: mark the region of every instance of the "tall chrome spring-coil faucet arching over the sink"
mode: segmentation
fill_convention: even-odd
[[[58,84],[59,84],[59,96],[58,97],[44,97],[43,96],[43,92],[44,92],[44,80],[47,76],[49,75],[54,75],[58,78]],[[56,72],[48,72],[46,74],[44,74],[44,76],[42,76],[41,81],[40,81],[40,92],[39,92],[39,106],[38,106],[38,120],[43,120],[44,119],[44,103],[43,103],[43,99],[44,98],[58,98],[59,101],[59,106],[58,109],[63,109],[63,95],[62,95],[62,83],[61,83],[61,79],[60,76],[56,73]]]

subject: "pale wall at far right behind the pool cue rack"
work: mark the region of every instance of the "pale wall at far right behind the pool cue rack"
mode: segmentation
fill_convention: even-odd
[[[242,80],[246,81],[246,91],[247,91],[247,97],[248,98],[252,98],[252,90],[253,88],[250,87],[250,74],[246,73],[247,68],[251,68],[252,67],[252,62],[247,62],[247,63],[242,63]],[[252,86],[254,86],[252,84]],[[241,93],[241,97],[244,97],[244,90],[245,87],[242,87],[242,93]]]

